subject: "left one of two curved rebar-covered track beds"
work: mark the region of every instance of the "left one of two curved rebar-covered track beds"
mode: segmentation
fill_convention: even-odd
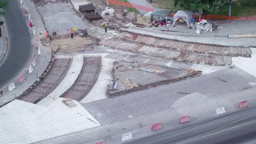
[[[54,63],[51,69],[49,69],[49,72],[47,72],[45,78],[42,79],[38,85],[35,85],[33,90],[26,92],[20,100],[35,104],[46,97],[62,81],[69,70],[71,62],[71,58],[55,58]]]

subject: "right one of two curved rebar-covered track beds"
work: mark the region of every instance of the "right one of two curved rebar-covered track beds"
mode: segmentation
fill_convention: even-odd
[[[101,69],[101,56],[85,56],[82,70],[74,85],[61,97],[80,101],[92,89]]]

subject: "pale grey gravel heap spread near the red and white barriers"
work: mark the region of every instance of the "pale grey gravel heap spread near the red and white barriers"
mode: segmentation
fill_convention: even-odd
[[[194,117],[216,116],[216,109],[224,107],[226,111],[232,111],[234,106],[231,102],[216,94],[203,95],[199,92],[186,95],[172,105],[180,114]]]

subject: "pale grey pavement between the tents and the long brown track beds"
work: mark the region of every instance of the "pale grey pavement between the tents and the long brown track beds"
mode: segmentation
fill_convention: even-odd
[[[256,33],[256,23],[251,21],[250,23],[243,23],[239,21],[231,21],[230,23],[223,23],[219,25],[219,32],[204,32],[198,35],[195,33],[195,29],[188,29],[187,26],[172,25],[169,27],[131,27],[127,29],[121,29],[130,33],[142,34],[145,36],[153,36],[163,39],[174,39],[184,42],[213,44],[220,46],[243,46],[243,47],[256,47],[256,38],[240,38],[240,39],[229,39],[228,35],[236,34],[251,34]],[[165,31],[163,31],[165,30]],[[166,30],[169,30],[166,31]],[[170,32],[176,31],[176,32]]]

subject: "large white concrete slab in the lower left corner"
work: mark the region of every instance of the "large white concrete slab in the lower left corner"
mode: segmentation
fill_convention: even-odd
[[[49,107],[14,100],[0,111],[1,143],[30,144],[100,126],[79,102],[69,108],[59,98]]]

